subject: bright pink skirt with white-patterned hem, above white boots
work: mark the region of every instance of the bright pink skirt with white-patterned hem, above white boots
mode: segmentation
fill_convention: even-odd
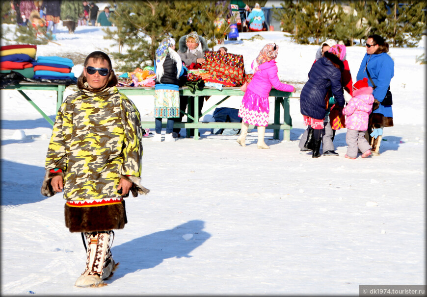
[[[241,100],[239,109],[239,117],[242,118],[242,122],[266,127],[268,125],[269,112],[270,104],[268,97],[263,98],[247,89]]]

